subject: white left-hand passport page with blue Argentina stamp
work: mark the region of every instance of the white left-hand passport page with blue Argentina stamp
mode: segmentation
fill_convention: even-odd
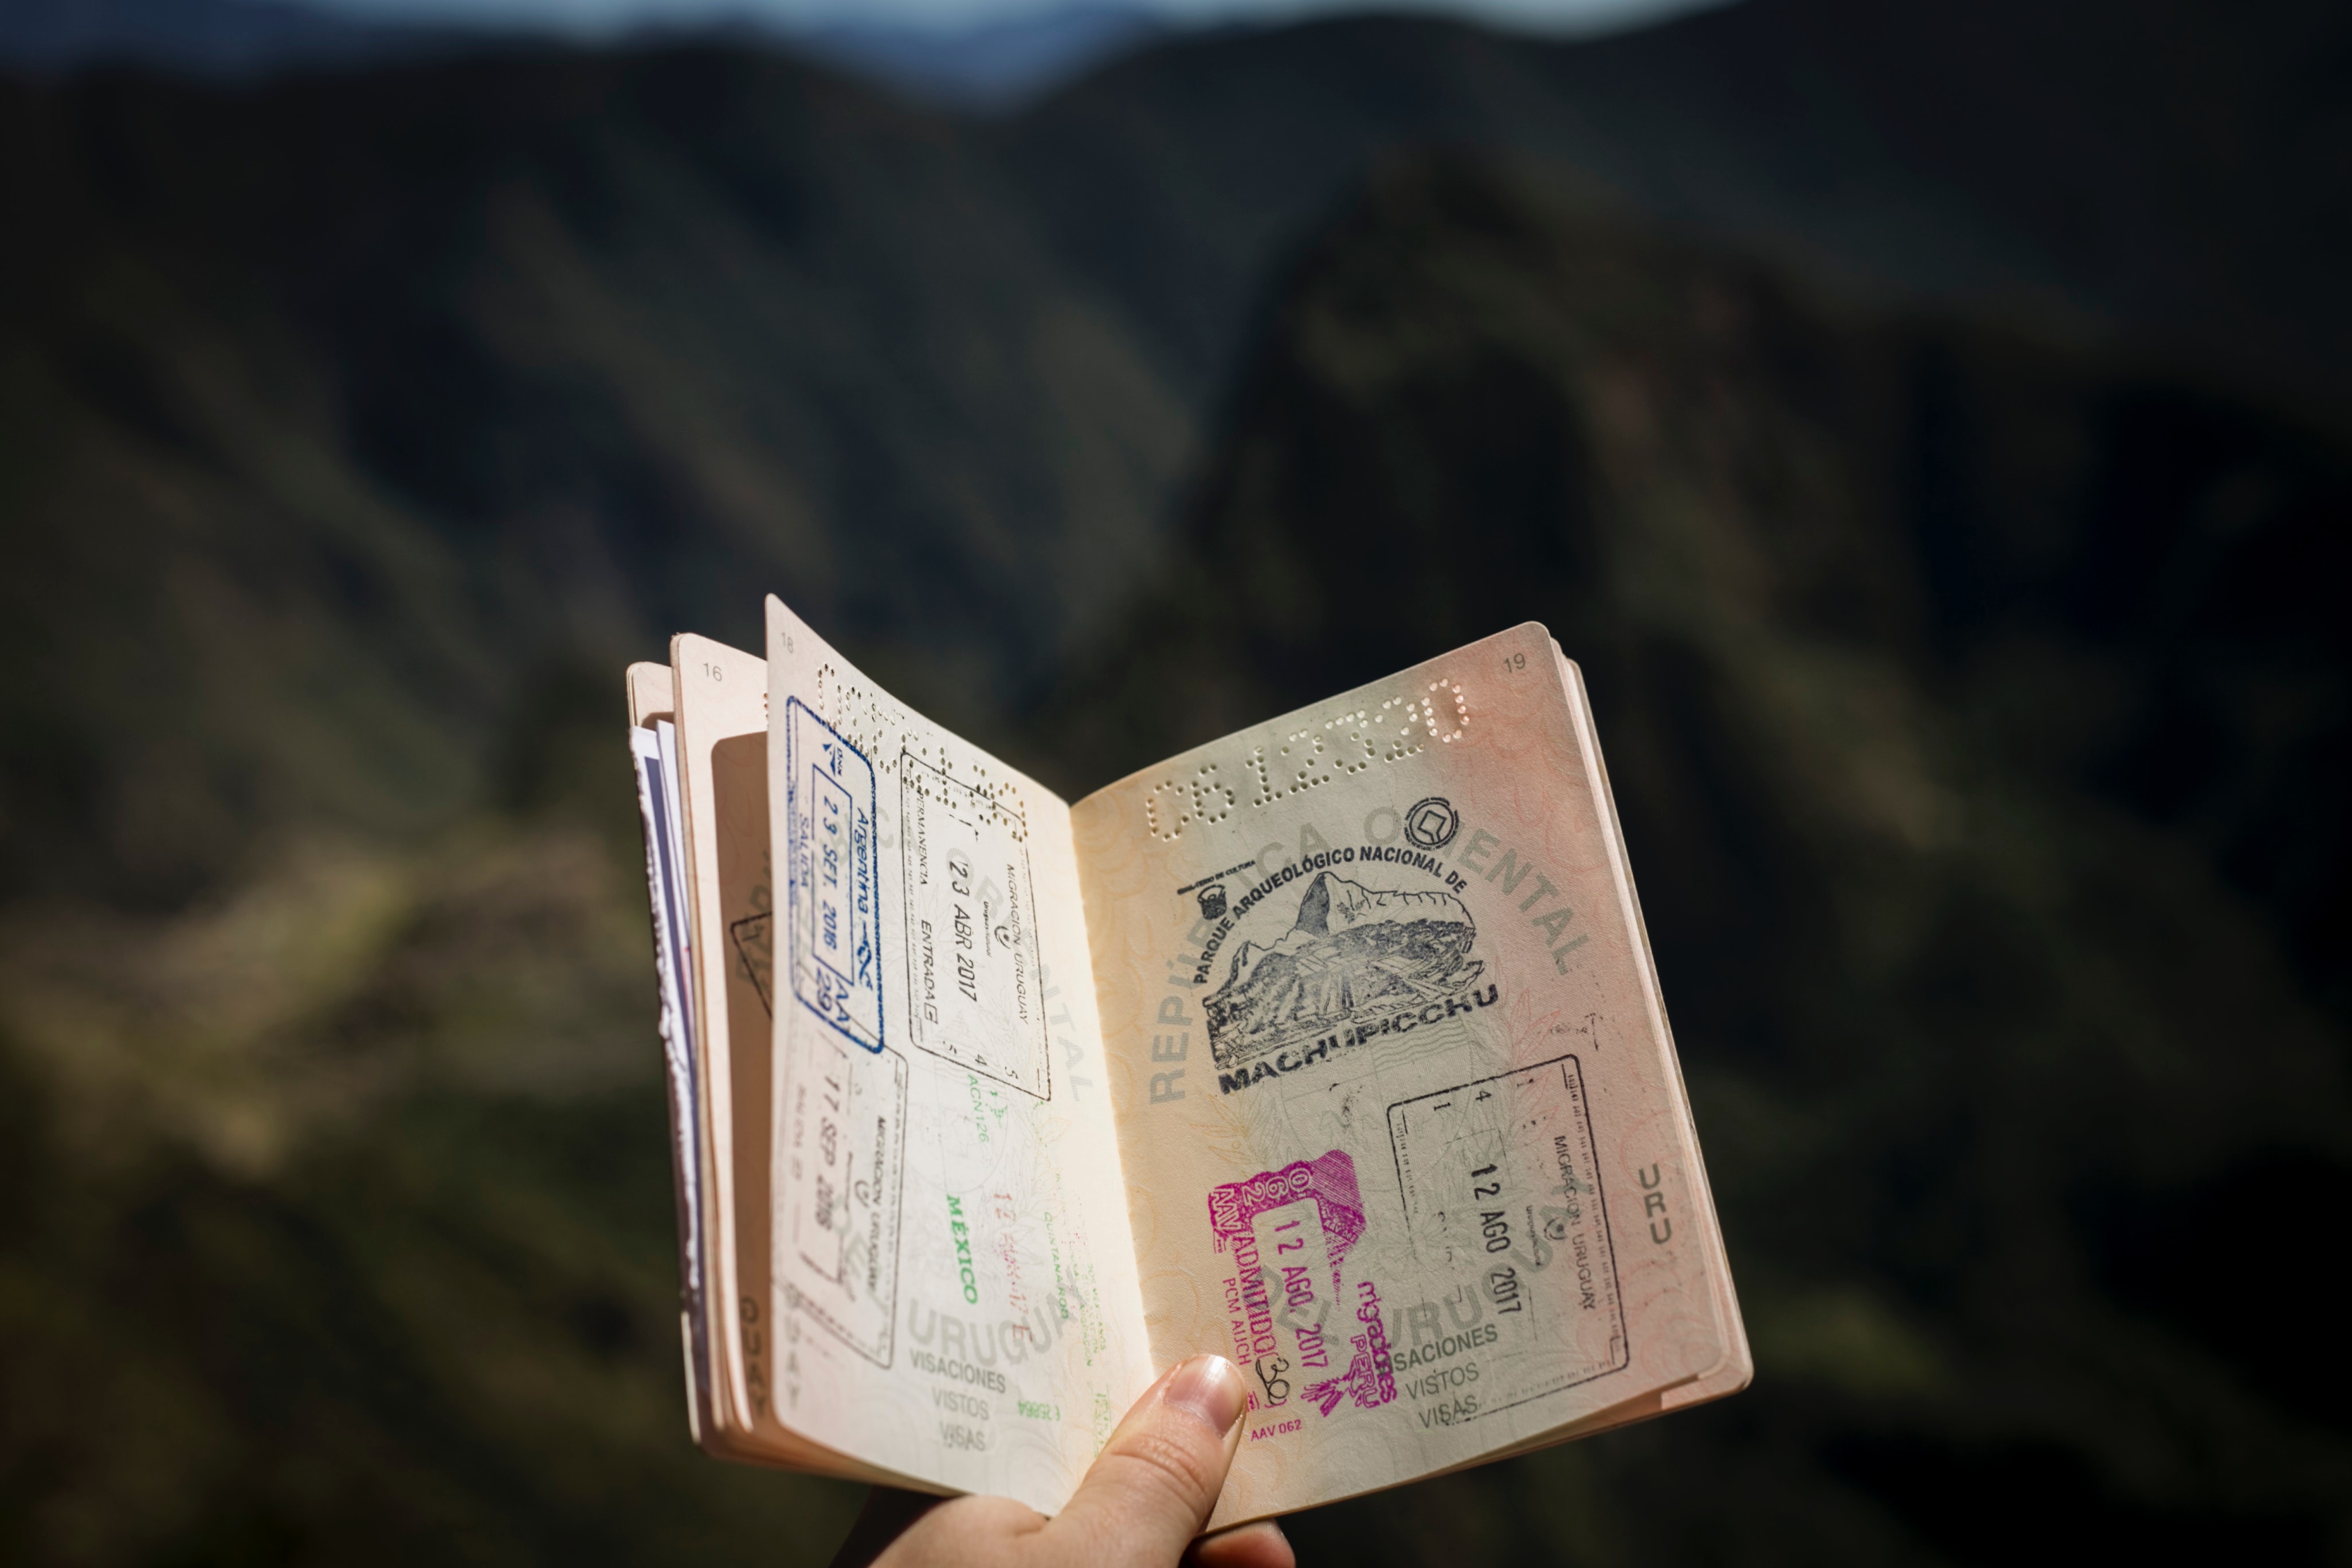
[[[767,602],[767,1396],[1058,1509],[1152,1380],[1070,809]]]

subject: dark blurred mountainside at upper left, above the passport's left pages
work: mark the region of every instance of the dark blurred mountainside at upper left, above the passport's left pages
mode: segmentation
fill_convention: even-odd
[[[0,122],[42,235],[0,256],[7,649],[94,651],[7,698],[0,790],[71,835],[7,846],[38,886],[447,820],[536,668],[750,639],[769,588],[1000,712],[1185,449],[967,127],[790,61],[92,78]]]

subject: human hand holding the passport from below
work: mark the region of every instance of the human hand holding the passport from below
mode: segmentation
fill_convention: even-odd
[[[1195,1540],[1247,1406],[1232,1361],[1192,1356],[1143,1392],[1054,1519],[1009,1497],[877,1486],[833,1568],[1296,1568],[1270,1519]]]

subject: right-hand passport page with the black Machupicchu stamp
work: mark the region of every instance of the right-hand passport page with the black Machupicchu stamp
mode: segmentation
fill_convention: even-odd
[[[1522,625],[1073,809],[1152,1354],[1251,1387],[1214,1526],[1745,1363],[1571,677]]]

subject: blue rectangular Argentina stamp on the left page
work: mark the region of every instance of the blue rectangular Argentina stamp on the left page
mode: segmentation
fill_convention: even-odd
[[[882,856],[875,769],[840,731],[786,703],[786,846],[793,994],[868,1051],[882,1048]]]

